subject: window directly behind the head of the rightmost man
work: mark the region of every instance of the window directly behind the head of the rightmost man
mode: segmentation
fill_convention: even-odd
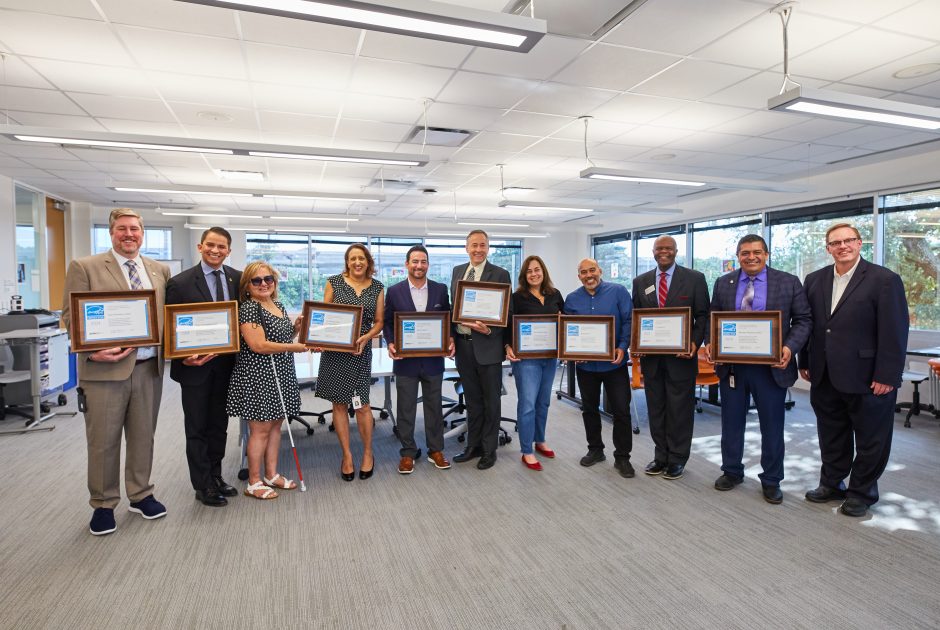
[[[826,251],[826,230],[834,223],[851,223],[862,235],[862,256],[873,260],[875,221],[873,199],[828,203],[767,214],[770,225],[770,266],[801,281],[806,274],[832,264]]]

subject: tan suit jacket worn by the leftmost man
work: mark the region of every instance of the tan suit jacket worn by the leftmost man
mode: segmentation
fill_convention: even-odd
[[[170,269],[157,261],[140,257],[144,263],[147,277],[157,294],[157,328],[163,338],[163,304],[166,283],[170,279]],[[128,291],[127,279],[121,271],[111,250],[95,256],[73,260],[65,274],[65,308],[62,309],[62,321],[70,329],[71,308],[69,295],[75,291]],[[87,352],[78,353],[78,377],[87,381],[123,381],[130,377],[137,361],[137,352],[132,352],[117,363],[89,361]],[[163,374],[163,346],[157,346],[157,371]]]

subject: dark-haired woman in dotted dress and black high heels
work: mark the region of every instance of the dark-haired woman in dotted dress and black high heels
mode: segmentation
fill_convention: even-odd
[[[369,388],[372,385],[372,339],[382,332],[385,311],[385,288],[375,280],[375,261],[365,245],[350,245],[346,250],[346,269],[331,276],[323,294],[324,302],[362,306],[362,328],[356,340],[359,351],[324,352],[317,377],[317,396],[333,403],[333,428],[343,449],[340,475],[345,481],[355,476],[352,451],[349,449],[349,417],[347,407],[355,396],[362,406],[356,410],[356,426],[362,439],[362,463],[359,478],[368,479],[375,469],[372,456],[372,408]]]

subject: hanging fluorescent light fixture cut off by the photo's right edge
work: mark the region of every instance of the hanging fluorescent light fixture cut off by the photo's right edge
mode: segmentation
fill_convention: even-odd
[[[802,86],[771,98],[767,109],[930,131],[940,129],[940,109],[936,107]]]

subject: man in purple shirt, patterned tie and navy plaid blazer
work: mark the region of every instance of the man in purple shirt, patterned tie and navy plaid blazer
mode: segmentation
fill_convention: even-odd
[[[787,388],[796,382],[796,355],[809,338],[813,320],[803,286],[796,276],[767,266],[767,243],[756,234],[738,241],[740,270],[715,281],[711,310],[780,311],[783,349],[777,365],[718,365],[721,379],[721,470],[716,490],[731,490],[744,480],[744,425],[753,397],[761,431],[758,475],[764,500],[783,502],[783,423]],[[711,331],[709,331],[710,333]],[[706,337],[706,341],[711,340]],[[706,346],[711,356],[710,345]]]

